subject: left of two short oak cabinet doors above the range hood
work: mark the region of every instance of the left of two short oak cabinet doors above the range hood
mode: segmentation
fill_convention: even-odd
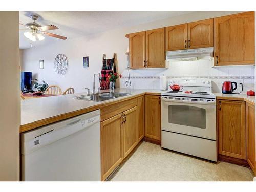
[[[166,51],[187,49],[187,24],[165,28]]]

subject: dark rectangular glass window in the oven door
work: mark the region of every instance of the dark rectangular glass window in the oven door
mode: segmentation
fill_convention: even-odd
[[[206,128],[206,111],[203,108],[186,105],[168,106],[169,123]]]

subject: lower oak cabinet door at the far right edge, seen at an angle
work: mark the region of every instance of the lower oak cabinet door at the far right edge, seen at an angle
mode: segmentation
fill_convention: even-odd
[[[255,107],[249,103],[246,103],[246,160],[255,174]]]

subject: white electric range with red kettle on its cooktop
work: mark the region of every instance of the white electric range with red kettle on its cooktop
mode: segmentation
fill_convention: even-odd
[[[174,92],[170,85],[183,89]],[[161,96],[162,147],[217,161],[216,96],[211,80],[175,78]]]

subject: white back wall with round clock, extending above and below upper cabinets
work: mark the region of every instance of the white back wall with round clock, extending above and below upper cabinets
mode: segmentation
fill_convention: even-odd
[[[112,58],[113,53],[117,53],[119,73],[127,76],[127,70],[125,69],[127,67],[127,56],[124,53],[126,52],[126,48],[129,46],[129,40],[124,37],[125,34],[193,22],[196,20],[218,17],[233,13],[237,12],[194,12],[178,17],[159,20],[156,22],[141,24],[139,26],[134,26],[130,28],[115,29],[100,34],[77,37],[75,39],[68,39],[65,41],[59,40],[59,42],[48,46],[25,49],[22,51],[22,71],[32,71],[32,73],[35,75],[35,78],[38,78],[39,81],[45,80],[50,84],[58,84],[62,88],[62,90],[65,90],[68,87],[74,87],[76,92],[83,92],[85,87],[92,89],[93,73],[100,72],[103,53],[107,54],[108,58]],[[54,59],[59,53],[65,54],[69,59],[69,70],[67,74],[63,76],[57,75],[54,72]],[[89,68],[82,68],[83,56],[89,56]],[[44,70],[39,70],[39,60],[45,60]],[[190,65],[190,62],[188,62],[188,66],[185,65],[186,64],[184,62],[184,69],[189,69],[188,66]],[[175,69],[178,70],[178,73],[181,74],[181,76],[205,76],[201,75],[201,69],[200,73],[196,73],[194,67],[191,67],[191,69],[194,70],[194,72],[191,72],[193,73],[193,75],[191,75],[190,70],[187,70],[187,73],[182,74],[184,69],[178,69],[174,66],[170,65],[170,68],[167,70],[132,70],[131,75],[136,77],[151,77],[159,76],[164,73],[167,76],[176,76],[172,74],[173,69]],[[211,71],[215,71],[212,72],[212,74],[216,74],[216,79],[218,79],[218,82],[216,80],[216,86],[214,91],[220,91],[218,87],[220,86],[221,82],[219,80],[220,76],[223,76],[225,78],[233,78],[233,76],[237,76],[237,70],[239,70],[239,76],[245,78],[245,76],[251,76],[250,71],[252,69],[252,67],[224,67],[210,69],[210,63],[200,64],[198,62],[196,66],[203,66],[203,73],[208,74],[208,76],[211,76]],[[196,67],[196,69],[198,69],[198,67]],[[144,88],[145,86],[152,89],[160,88],[158,86],[158,79],[153,78],[153,83],[151,81],[152,78],[148,79],[149,81],[145,81],[143,86],[141,86],[141,80],[136,81],[132,79],[132,88]],[[125,86],[124,81],[125,79],[121,80],[121,87]],[[247,83],[247,80],[242,79],[242,81]],[[246,86],[250,87],[251,82],[249,82]]]

